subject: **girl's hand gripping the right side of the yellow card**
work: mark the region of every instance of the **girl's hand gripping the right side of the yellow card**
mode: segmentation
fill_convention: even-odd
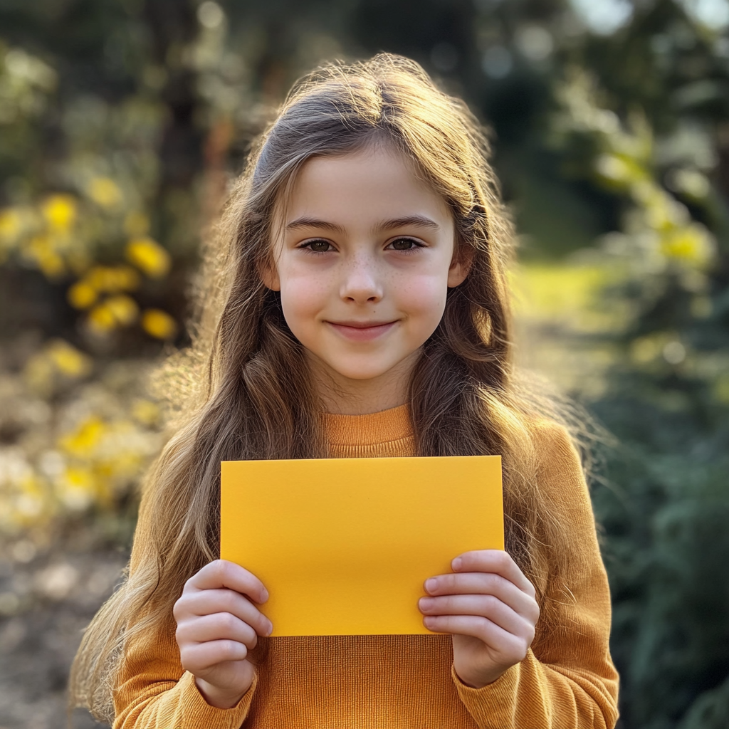
[[[502,550],[466,552],[452,574],[425,582],[423,622],[435,633],[453,634],[453,668],[464,684],[481,688],[526,656],[539,605],[534,586]]]

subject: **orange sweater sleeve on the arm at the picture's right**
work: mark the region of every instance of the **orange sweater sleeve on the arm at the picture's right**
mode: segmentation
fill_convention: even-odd
[[[480,729],[613,729],[618,677],[609,653],[610,596],[580,457],[561,426],[539,426],[534,438],[543,454],[539,488],[571,534],[564,572],[550,574],[545,590],[555,627],[545,635],[537,625],[526,658],[492,684],[469,687],[453,668],[451,677]]]

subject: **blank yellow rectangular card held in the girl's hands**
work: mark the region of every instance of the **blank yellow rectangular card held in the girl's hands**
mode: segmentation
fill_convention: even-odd
[[[274,636],[429,634],[423,582],[503,549],[501,456],[224,461],[220,556]]]

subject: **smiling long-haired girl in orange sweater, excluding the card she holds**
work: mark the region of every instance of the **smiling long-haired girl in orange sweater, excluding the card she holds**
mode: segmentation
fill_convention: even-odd
[[[74,705],[114,729],[615,725],[588,491],[566,429],[512,375],[487,151],[404,58],[327,66],[289,95],[226,208],[207,392],[148,477]],[[507,549],[426,581],[432,635],[267,637],[266,586],[217,559],[220,461],[490,453]]]

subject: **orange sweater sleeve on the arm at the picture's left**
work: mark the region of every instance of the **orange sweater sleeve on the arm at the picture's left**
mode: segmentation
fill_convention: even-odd
[[[148,494],[139,507],[130,574],[152,558]],[[249,712],[257,676],[241,701],[230,709],[211,706],[195,677],[182,668],[174,618],[137,636],[125,647],[114,687],[112,729],[238,729]]]

